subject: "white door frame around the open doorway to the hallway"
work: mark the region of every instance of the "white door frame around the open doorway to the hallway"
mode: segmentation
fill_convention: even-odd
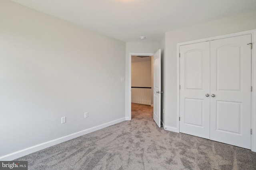
[[[140,55],[140,56],[153,56],[154,53],[129,53],[129,61],[128,61],[128,87],[126,87],[126,92],[128,91],[128,100],[126,101],[126,113],[128,113],[128,117],[126,120],[132,119],[132,55]],[[127,80],[127,79],[126,79]]]

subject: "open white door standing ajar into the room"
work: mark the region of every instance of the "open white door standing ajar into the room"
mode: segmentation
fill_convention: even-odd
[[[153,119],[161,127],[161,49],[153,56],[154,61],[154,98]]]

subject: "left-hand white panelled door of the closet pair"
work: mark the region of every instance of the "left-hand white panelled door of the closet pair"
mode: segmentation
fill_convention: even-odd
[[[180,46],[180,132],[210,138],[210,43]]]

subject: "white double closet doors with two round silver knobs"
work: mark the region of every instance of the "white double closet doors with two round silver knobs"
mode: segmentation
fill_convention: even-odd
[[[180,46],[180,132],[251,149],[251,35]]]

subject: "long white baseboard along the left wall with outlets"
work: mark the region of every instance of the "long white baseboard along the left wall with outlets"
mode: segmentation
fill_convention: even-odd
[[[36,152],[36,151],[39,151],[39,150],[42,150],[42,149],[46,149],[48,147],[52,147],[54,145],[57,145],[59,143],[62,143],[62,142],[65,142],[65,141],[68,141],[70,139],[74,139],[76,137],[80,137],[82,135],[86,135],[88,133],[91,133],[91,132],[94,132],[94,131],[97,131],[97,130],[100,130],[100,129],[103,129],[105,127],[108,127],[108,126],[111,126],[111,125],[114,125],[116,123],[120,123],[122,121],[126,120],[126,117],[124,118],[121,118],[121,119],[117,119],[117,120],[114,120],[114,121],[110,121],[108,123],[104,123],[102,125],[98,125],[98,126],[95,126],[95,127],[91,127],[89,129],[85,129],[85,130],[82,130],[82,131],[79,131],[79,132],[76,132],[76,133],[72,133],[70,135],[66,135],[64,137],[60,137],[58,139],[54,139],[52,141],[48,141],[48,142],[44,142],[44,143],[41,143],[39,145],[34,145],[32,147],[29,147],[29,148],[26,148],[26,149],[22,149],[22,150],[18,150],[16,152],[13,152],[13,153],[10,153],[10,154],[7,154],[7,155],[4,155],[4,156],[1,156],[0,157],[0,161],[10,161],[10,160],[14,160],[14,159],[17,159],[17,158],[20,158],[22,156],[25,156],[27,154],[31,154],[33,152]]]

